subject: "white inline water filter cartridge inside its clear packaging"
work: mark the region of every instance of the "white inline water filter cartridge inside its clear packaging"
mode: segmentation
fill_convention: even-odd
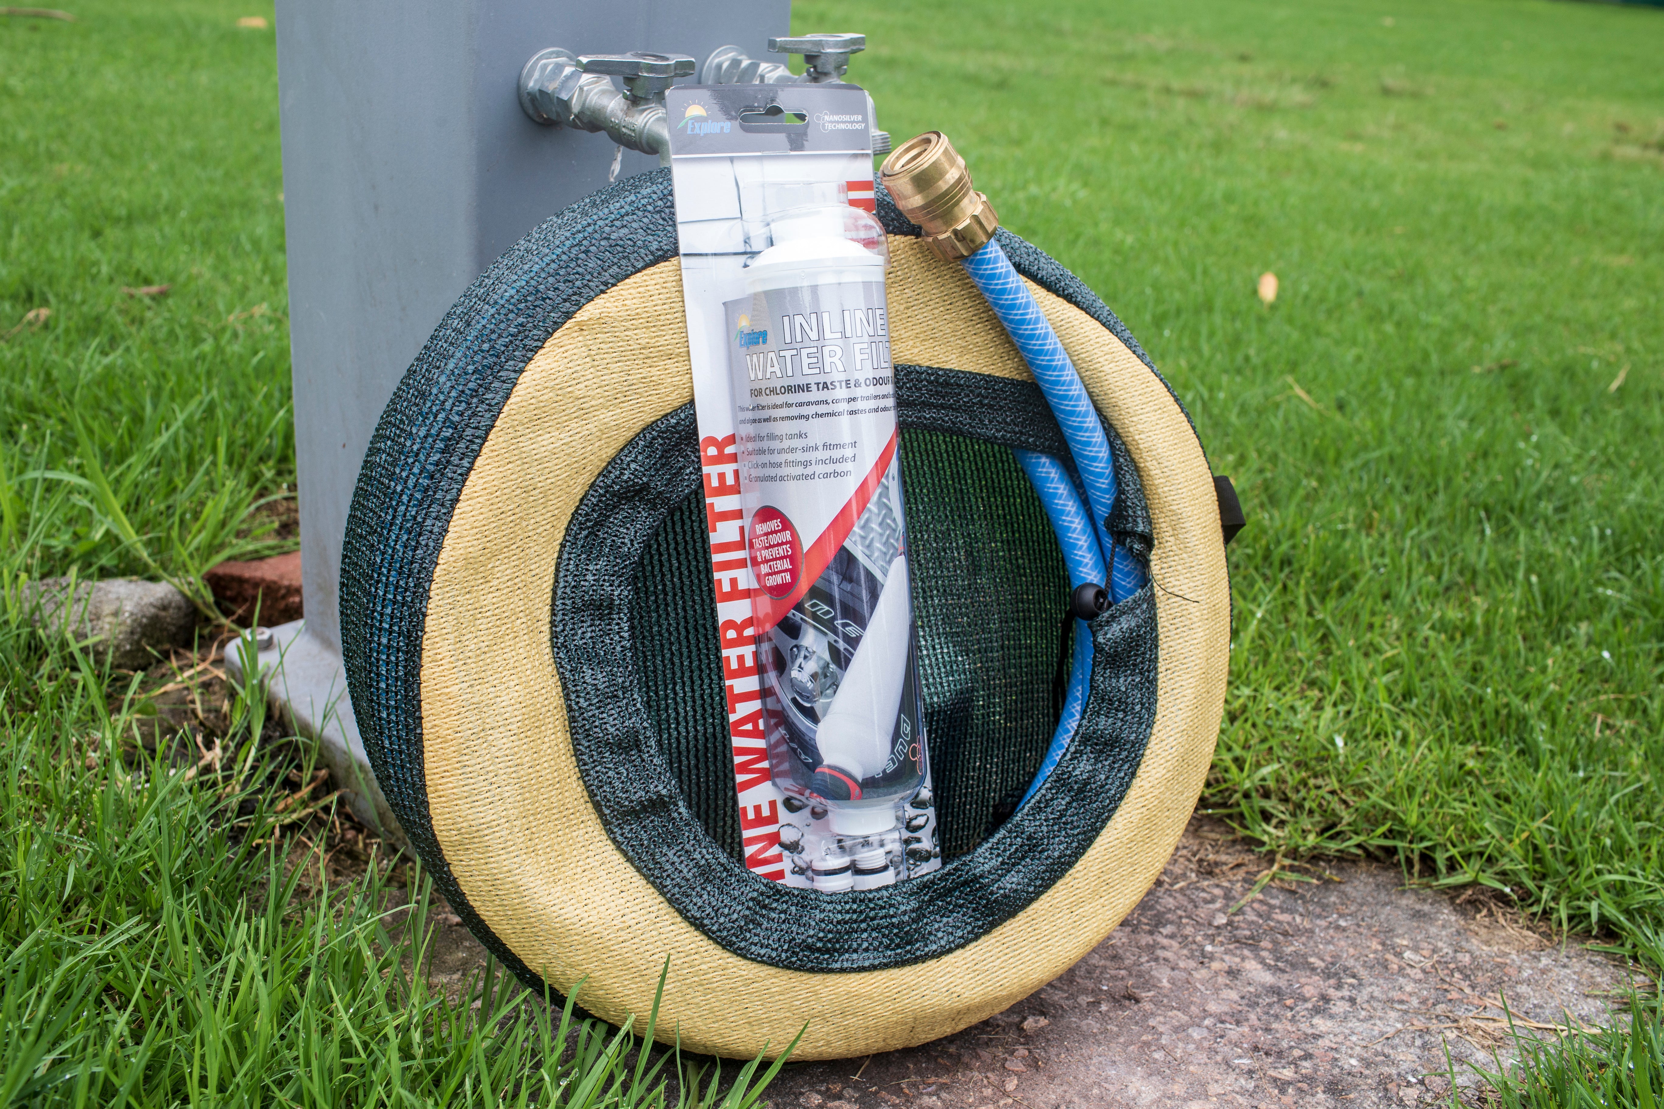
[[[905,866],[897,808],[927,773],[907,574],[884,231],[780,185],[727,303],[735,447],[775,781],[827,813],[814,885]]]

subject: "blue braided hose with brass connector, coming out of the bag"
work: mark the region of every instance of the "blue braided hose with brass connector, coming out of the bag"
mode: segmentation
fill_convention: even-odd
[[[1020,808],[1057,766],[1085,712],[1092,678],[1092,632],[1085,620],[1143,589],[1145,572],[1130,554],[1118,549],[1108,530],[1117,494],[1115,461],[1098,411],[1040,304],[993,241],[998,216],[988,198],[972,188],[965,160],[945,135],[927,131],[902,143],[885,160],[880,178],[895,205],[924,228],[925,243],[942,258],[960,261],[988,301],[1045,394],[1068,442],[1080,485],[1085,487],[1082,499],[1075,479],[1050,456],[1013,452],[1040,495],[1063,549],[1073,587],[1070,610],[1077,617],[1068,690],[1052,743],[1018,801]],[[1092,600],[1093,590],[1102,590],[1097,604]]]

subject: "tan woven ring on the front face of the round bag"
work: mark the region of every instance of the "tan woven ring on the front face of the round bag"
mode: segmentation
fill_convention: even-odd
[[[897,361],[1025,376],[958,266],[892,238]],[[681,273],[664,263],[596,298],[522,372],[463,489],[423,640],[434,835],[491,929],[557,989],[621,1021],[652,1004],[684,1047],[795,1057],[890,1051],[973,1024],[1090,951],[1160,875],[1195,806],[1225,692],[1228,595],[1218,507],[1185,416],[1150,371],[1042,293],[1060,338],[1138,461],[1156,529],[1160,707],[1120,811],[1027,911],[940,959],[860,974],[742,959],[684,921],[612,846],[587,800],[549,655],[561,537],[606,462],[691,399]],[[905,354],[904,354],[905,351]],[[1176,595],[1193,600],[1178,600]],[[759,926],[767,923],[759,921]]]

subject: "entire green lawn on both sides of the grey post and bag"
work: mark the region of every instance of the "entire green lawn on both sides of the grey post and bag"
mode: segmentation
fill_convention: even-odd
[[[133,742],[163,677],[20,622],[23,575],[190,585],[293,504],[273,13],[73,10],[0,17],[0,1101],[484,1101],[559,1014],[426,993],[409,868],[288,883],[305,745],[230,688],[185,780]],[[1664,964],[1664,12],[942,12],[794,25],[869,35],[880,121],[952,136],[1235,479],[1205,806]],[[624,1081],[589,1042],[524,1096]]]

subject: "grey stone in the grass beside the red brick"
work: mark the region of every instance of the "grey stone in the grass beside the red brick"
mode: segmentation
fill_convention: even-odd
[[[148,667],[151,652],[190,645],[196,627],[196,609],[166,582],[77,582],[72,597],[70,579],[48,577],[27,582],[22,602],[35,627],[67,633],[87,643],[100,663],[121,670]]]

